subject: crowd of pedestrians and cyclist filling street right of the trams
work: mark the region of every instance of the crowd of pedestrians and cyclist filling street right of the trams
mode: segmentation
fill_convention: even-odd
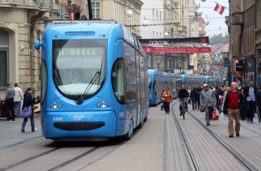
[[[231,86],[231,87],[230,87]],[[206,125],[210,125],[212,120],[212,113],[214,109],[218,114],[228,116],[228,133],[229,137],[240,136],[240,120],[251,123],[255,111],[261,112],[261,88],[258,90],[253,85],[253,81],[249,81],[249,84],[245,87],[241,85],[240,80],[232,82],[230,86],[214,87],[207,85],[206,83],[198,87],[185,88],[185,85],[181,85],[179,92],[177,93],[177,100],[179,100],[179,110],[182,109],[182,101],[185,100],[185,109],[188,111],[188,103],[192,105],[192,110],[201,110],[205,112]],[[170,112],[170,102],[172,98],[165,98],[168,91],[163,90],[161,98],[164,103],[161,105],[161,110],[165,109],[166,114]],[[168,92],[168,97],[171,93]],[[180,115],[181,112],[180,112]],[[233,120],[236,121],[234,127]],[[235,129],[234,129],[235,128]]]

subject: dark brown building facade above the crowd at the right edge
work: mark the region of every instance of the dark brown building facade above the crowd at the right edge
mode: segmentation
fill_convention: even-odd
[[[240,79],[242,85],[250,80],[258,83],[256,57],[256,1],[229,1],[229,41],[232,81]]]

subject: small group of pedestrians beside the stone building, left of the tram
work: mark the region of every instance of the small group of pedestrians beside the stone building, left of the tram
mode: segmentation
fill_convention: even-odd
[[[15,121],[15,118],[19,118],[21,116],[21,102],[23,101],[22,110],[25,107],[32,107],[32,114],[29,118],[31,121],[32,132],[34,132],[34,102],[36,98],[32,96],[33,89],[27,88],[25,94],[23,94],[23,91],[19,88],[18,83],[14,83],[14,88],[11,87],[10,83],[7,83],[6,88],[5,98],[0,98],[1,105],[3,105],[3,103],[5,105],[6,120]],[[28,118],[23,118],[21,132],[25,132],[25,124],[27,120]]]

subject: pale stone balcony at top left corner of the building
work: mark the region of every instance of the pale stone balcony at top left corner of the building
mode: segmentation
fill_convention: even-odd
[[[5,8],[52,8],[52,0],[0,0],[0,6]]]

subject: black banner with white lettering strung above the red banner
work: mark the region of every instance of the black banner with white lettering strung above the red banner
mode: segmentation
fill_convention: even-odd
[[[175,44],[209,44],[208,37],[139,39],[142,46],[158,47]]]

